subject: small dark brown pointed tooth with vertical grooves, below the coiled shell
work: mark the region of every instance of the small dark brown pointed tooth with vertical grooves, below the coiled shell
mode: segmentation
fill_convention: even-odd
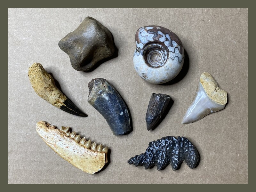
[[[146,114],[146,122],[148,131],[157,124],[157,122],[162,118],[171,97],[162,93],[152,93],[148,110]]]

